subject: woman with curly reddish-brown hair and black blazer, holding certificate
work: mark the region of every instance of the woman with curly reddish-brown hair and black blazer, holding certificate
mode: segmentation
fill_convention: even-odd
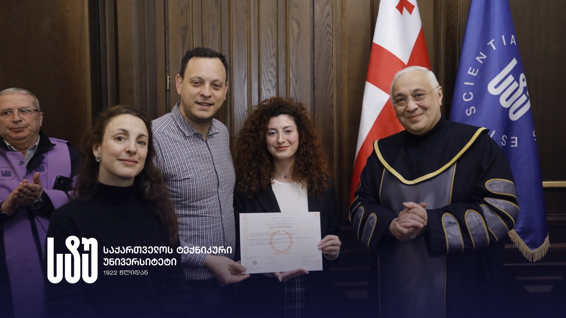
[[[251,316],[321,315],[333,307],[328,267],[338,262],[341,232],[328,164],[305,107],[281,97],[261,101],[239,132],[235,149],[234,213],[320,212],[318,248],[324,255],[322,271],[253,274],[240,288],[243,311]]]

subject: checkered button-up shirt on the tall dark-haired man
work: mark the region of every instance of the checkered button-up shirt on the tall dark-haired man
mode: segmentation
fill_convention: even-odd
[[[179,110],[152,122],[155,164],[171,192],[179,220],[182,247],[231,247],[231,253],[217,253],[233,259],[234,164],[228,129],[216,119],[207,140],[189,124]],[[181,260],[187,280],[206,280],[212,274],[203,268],[206,253],[183,253]]]

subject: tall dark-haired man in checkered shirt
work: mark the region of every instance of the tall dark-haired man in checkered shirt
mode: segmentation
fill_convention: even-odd
[[[228,92],[226,57],[208,48],[188,50],[175,84],[181,102],[152,122],[155,161],[171,191],[181,246],[231,247],[230,253],[182,254],[196,307],[225,307],[230,292],[221,286],[250,276],[232,260],[234,165],[228,129],[213,118]]]

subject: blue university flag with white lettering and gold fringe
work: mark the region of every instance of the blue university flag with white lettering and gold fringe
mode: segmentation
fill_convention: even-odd
[[[508,0],[472,0],[450,120],[488,128],[507,155],[520,208],[509,237],[537,261],[550,243],[530,107]]]

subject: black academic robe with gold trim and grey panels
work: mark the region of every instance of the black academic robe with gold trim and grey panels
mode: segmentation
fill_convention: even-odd
[[[374,142],[350,207],[370,248],[381,317],[492,317],[501,306],[503,248],[518,205],[507,158],[486,128],[441,118],[431,131]],[[427,204],[408,242],[389,232],[403,202]]]

